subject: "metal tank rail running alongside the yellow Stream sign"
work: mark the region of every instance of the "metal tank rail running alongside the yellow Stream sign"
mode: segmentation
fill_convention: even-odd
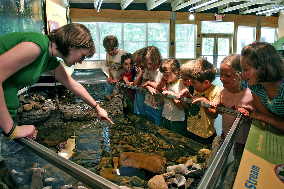
[[[235,138],[239,131],[240,125],[242,124],[243,118],[244,115],[242,113],[239,113],[237,118],[235,119],[235,122],[233,123],[233,126],[227,133],[222,145],[220,146],[215,157],[213,158],[210,166],[204,173],[196,189],[215,188],[218,178],[220,177],[220,174],[222,172],[222,168],[224,167],[229,152],[231,151],[231,148],[235,142]]]

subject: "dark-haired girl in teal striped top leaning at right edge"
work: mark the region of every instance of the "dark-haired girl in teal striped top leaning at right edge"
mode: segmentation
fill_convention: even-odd
[[[248,81],[259,112],[250,118],[284,132],[284,60],[271,44],[254,42],[241,52],[242,76]]]

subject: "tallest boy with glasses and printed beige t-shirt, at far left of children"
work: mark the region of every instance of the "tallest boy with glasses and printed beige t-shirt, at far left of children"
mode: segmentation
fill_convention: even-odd
[[[106,80],[111,86],[107,85],[110,93],[112,93],[112,85],[122,80],[125,70],[123,69],[120,58],[127,50],[118,49],[118,39],[114,35],[107,35],[103,41],[106,51],[105,66],[108,67],[108,79]]]

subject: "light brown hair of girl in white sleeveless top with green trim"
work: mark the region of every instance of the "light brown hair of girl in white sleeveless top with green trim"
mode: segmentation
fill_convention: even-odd
[[[174,81],[178,80],[180,75],[180,63],[176,58],[168,58],[160,65],[160,72],[171,73]],[[178,75],[174,73],[178,72]]]

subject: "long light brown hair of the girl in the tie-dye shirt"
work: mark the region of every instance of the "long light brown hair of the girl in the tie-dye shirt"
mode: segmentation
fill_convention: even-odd
[[[156,46],[147,46],[144,48],[142,53],[142,62],[143,66],[145,65],[145,67],[147,59],[150,59],[152,61],[153,71],[159,69],[160,64],[164,61],[161,52]]]

